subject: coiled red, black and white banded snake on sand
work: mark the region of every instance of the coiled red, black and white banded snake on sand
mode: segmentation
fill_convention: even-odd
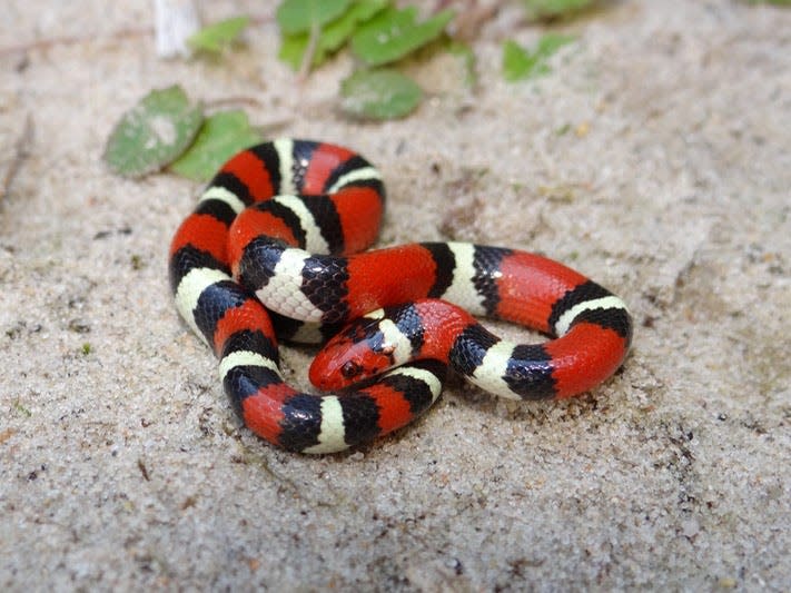
[[[290,451],[342,451],[425,412],[448,364],[497,395],[535,399],[587,391],[625,357],[623,302],[551,259],[464,243],[358,253],[375,240],[384,201],[379,172],[359,155],[284,138],[228,160],[176,233],[177,308],[218,356],[256,434]],[[561,337],[512,344],[471,314]],[[337,395],[284,382],[276,334],[310,342],[355,319],[314,362],[315,384],[346,387],[421,359]]]

